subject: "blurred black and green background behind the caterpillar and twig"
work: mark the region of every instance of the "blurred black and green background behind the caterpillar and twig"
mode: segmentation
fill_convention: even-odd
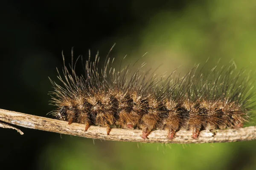
[[[46,116],[61,51],[88,49],[145,68],[185,72],[231,60],[256,70],[255,0],[8,0],[0,3],[0,108]],[[118,65],[118,64],[117,64]],[[255,77],[252,77],[255,78]],[[252,121],[250,125],[255,125]],[[0,168],[26,170],[255,170],[256,141],[140,144],[0,129]]]

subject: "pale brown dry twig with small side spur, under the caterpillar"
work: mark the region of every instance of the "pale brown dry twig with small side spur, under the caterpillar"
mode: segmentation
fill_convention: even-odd
[[[2,123],[1,123],[2,122]],[[142,130],[131,129],[119,129],[113,128],[110,135],[107,135],[105,127],[90,126],[85,132],[85,125],[72,123],[68,125],[68,122],[49,119],[40,116],[34,116],[24,113],[18,113],[14,111],[7,111],[0,109],[0,127],[14,128],[20,134],[22,132],[15,127],[6,125],[9,123],[12,125],[18,125],[30,129],[44,130],[49,132],[81,136],[86,138],[104,139],[112,141],[127,141],[127,142],[143,142],[143,143],[214,143],[214,142],[237,142],[237,141],[250,141],[256,139],[256,126],[216,130],[216,133],[209,132],[209,130],[201,131],[198,139],[191,138],[191,131],[179,130],[176,133],[175,139],[167,139],[167,132],[165,130],[154,130],[148,136],[148,139],[142,139],[140,135]]]

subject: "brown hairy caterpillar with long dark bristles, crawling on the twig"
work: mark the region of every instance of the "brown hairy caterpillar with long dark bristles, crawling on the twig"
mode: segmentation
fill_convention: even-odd
[[[173,72],[169,77],[143,73],[141,68],[130,71],[127,65],[122,71],[113,68],[108,56],[102,69],[98,68],[99,55],[85,62],[84,74],[77,75],[76,59],[70,68],[65,65],[63,75],[58,71],[62,85],[52,82],[50,112],[57,119],[85,125],[139,128],[141,137],[147,139],[152,130],[166,130],[169,139],[175,138],[180,128],[192,130],[197,139],[206,128],[242,127],[253,110],[250,77],[244,71],[235,72],[233,65],[212,68],[208,74],[197,73],[198,65],[184,77]],[[81,60],[82,61],[82,60]],[[198,75],[198,76],[197,76]]]

